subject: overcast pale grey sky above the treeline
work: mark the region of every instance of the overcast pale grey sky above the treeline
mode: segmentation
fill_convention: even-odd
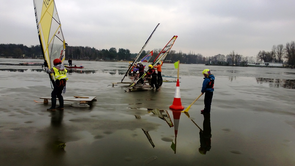
[[[0,0],[0,43],[40,44],[33,0]],[[294,0],[55,0],[70,46],[255,56],[295,40]]]

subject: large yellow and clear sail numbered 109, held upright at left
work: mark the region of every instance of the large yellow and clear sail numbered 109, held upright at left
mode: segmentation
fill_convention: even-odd
[[[65,39],[61,31],[61,24],[58,17],[54,0],[33,0],[37,30],[42,47],[45,64],[53,68],[53,60],[59,58],[63,64],[65,60]],[[53,74],[49,74],[54,85]]]

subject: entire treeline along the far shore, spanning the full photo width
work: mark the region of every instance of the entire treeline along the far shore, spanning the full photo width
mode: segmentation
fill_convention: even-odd
[[[154,49],[152,62],[162,49]],[[150,52],[150,50],[142,51],[140,58],[144,57]],[[129,49],[119,48],[117,50],[114,47],[110,49],[97,50],[94,47],[83,46],[67,46],[66,59],[71,58],[74,60],[107,60],[107,61],[133,61],[138,53],[131,53]],[[0,56],[10,58],[43,58],[40,45],[31,45],[27,47],[23,44],[0,44]],[[244,66],[248,62],[254,62],[255,60],[264,62],[278,62],[283,63],[283,58],[286,59],[285,63],[290,66],[295,65],[295,41],[287,42],[284,45],[273,45],[271,51],[259,51],[257,55],[253,57],[244,57],[239,55],[234,50],[228,55],[217,54],[214,56],[204,57],[202,54],[195,53],[182,53],[171,50],[166,57],[165,61],[188,64],[211,64],[211,65],[236,65]]]

